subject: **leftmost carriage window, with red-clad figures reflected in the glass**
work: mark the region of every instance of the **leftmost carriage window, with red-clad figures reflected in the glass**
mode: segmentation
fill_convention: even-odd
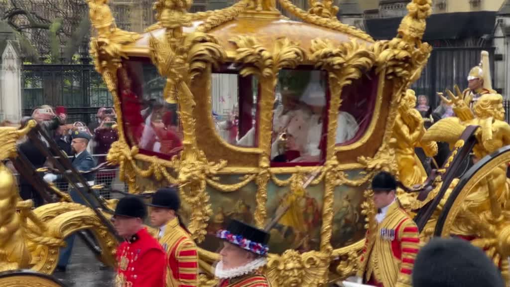
[[[166,80],[148,59],[126,60],[118,70],[124,130],[131,146],[170,158],[182,150],[177,104],[163,98]]]

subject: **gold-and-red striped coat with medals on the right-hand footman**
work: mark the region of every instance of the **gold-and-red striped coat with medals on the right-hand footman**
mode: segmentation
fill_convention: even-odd
[[[357,275],[375,286],[411,286],[419,244],[418,227],[396,200],[384,220],[367,231]]]

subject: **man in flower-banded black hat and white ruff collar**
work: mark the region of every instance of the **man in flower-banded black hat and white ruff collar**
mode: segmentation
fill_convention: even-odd
[[[267,263],[269,234],[237,220],[232,220],[217,237],[223,242],[221,260],[215,275],[218,287],[269,287],[271,284],[260,273]]]

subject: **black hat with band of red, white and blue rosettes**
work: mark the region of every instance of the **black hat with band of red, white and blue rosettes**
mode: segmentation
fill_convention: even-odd
[[[219,230],[217,237],[257,255],[266,256],[269,251],[269,233],[235,219]]]

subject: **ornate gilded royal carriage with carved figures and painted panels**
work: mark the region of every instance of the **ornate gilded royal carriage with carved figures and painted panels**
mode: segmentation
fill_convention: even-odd
[[[424,241],[475,235],[473,244],[485,248],[507,278],[508,262],[501,258],[510,255],[508,183],[501,170],[510,150],[502,148],[506,139],[493,141],[507,125],[486,121],[499,111],[501,96],[486,99],[487,106],[473,115],[452,95],[456,112],[466,117],[450,121],[450,130],[438,125],[425,132],[413,117],[416,97],[408,89],[431,51],[421,42],[431,1],[410,3],[390,41],[374,41],[340,23],[331,1],[312,1],[309,11],[289,0],[278,3],[302,21],[282,16],[270,0],[241,0],[194,14],[187,12],[191,1],[158,0],[158,22],[137,34],[115,26],[107,0],[88,1],[95,31],[91,53],[118,111],[119,140],[108,161],[119,165],[132,194],[180,187],[182,216],[200,247],[202,284],[215,282],[213,234],[228,218],[269,229],[266,273],[275,286],[324,285],[352,275],[371,224],[366,218],[374,212],[368,183],[380,170],[399,175],[402,202],[415,212]],[[233,79],[234,88],[222,90],[218,78]],[[221,136],[213,94],[232,92],[237,117],[228,124],[236,135]],[[158,104],[151,104],[154,99]],[[277,103],[295,114],[305,103],[308,113],[277,129],[283,118]],[[354,123],[350,129],[346,118]],[[303,141],[303,127],[307,135],[316,134],[315,141]],[[488,127],[494,137],[481,134]],[[347,129],[351,134],[340,137]],[[24,132],[4,130],[10,135],[5,138]],[[414,147],[433,155],[435,140],[453,141],[452,152],[427,177]],[[455,178],[456,166],[473,147],[480,160]],[[29,212],[28,223],[18,226],[24,235],[16,236],[25,238],[32,269],[52,273],[62,239],[84,229],[93,230],[100,243],[100,259],[114,265],[116,238],[105,226],[104,211],[115,201],[101,201],[100,208],[61,202]],[[41,219],[49,229],[36,227]],[[0,250],[6,247],[0,242]],[[27,268],[23,254],[0,259],[17,259],[10,269]]]

